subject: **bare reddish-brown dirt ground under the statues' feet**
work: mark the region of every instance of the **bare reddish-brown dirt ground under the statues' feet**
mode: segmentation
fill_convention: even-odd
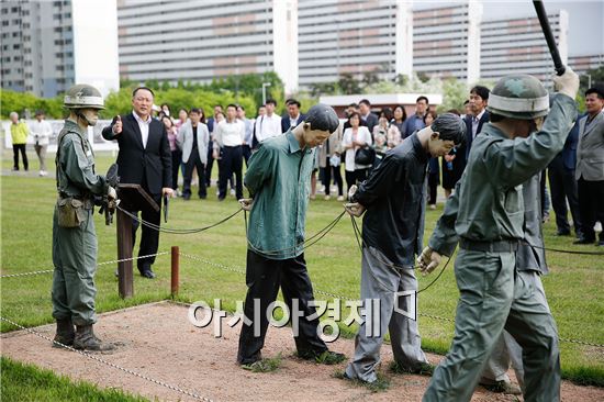
[[[235,364],[239,325],[223,325],[223,337],[213,336],[212,327],[197,328],[187,319],[188,309],[172,303],[146,304],[102,314],[97,333],[108,340],[122,340],[124,346],[112,354],[96,355],[115,365],[153,379],[179,387],[214,401],[420,401],[429,380],[424,376],[388,372],[392,360],[389,348],[382,350],[382,371],[391,379],[387,392],[371,393],[363,387],[334,378],[339,366],[323,366],[293,356],[290,328],[270,327],[264,356],[282,354],[281,368],[270,373],[254,373]],[[54,335],[54,326],[35,331]],[[49,343],[24,331],[1,337],[2,355],[35,364],[75,379],[104,388],[121,388],[161,401],[194,401],[168,388],[92,361],[72,351],[51,347]],[[348,357],[354,342],[339,339],[331,346]],[[438,355],[429,355],[438,362]],[[578,387],[564,381],[564,401],[603,401],[604,389]],[[516,401],[511,395],[478,389],[472,401]]]

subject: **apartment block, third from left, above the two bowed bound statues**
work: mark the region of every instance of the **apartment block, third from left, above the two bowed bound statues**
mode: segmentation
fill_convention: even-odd
[[[391,0],[300,0],[300,86],[411,74],[411,10]]]

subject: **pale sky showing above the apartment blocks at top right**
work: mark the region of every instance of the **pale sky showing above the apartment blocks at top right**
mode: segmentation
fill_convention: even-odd
[[[425,9],[439,4],[450,4],[455,1],[426,1],[420,4],[416,0],[414,9]],[[506,16],[535,15],[530,0],[482,1],[483,21]],[[604,54],[604,0],[591,1],[544,1],[546,10],[564,9],[569,13],[569,56]]]

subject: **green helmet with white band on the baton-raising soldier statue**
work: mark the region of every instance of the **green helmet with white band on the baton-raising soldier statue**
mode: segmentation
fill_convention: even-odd
[[[549,112],[549,94],[537,78],[514,74],[497,81],[489,94],[486,110],[511,119],[533,120]]]

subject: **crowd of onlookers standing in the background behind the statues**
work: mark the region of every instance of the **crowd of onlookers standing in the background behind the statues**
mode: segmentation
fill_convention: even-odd
[[[489,122],[489,94],[490,90],[486,87],[474,86],[463,103],[462,114],[458,110],[447,111],[460,115],[466,122],[466,142],[462,146],[451,149],[448,155],[429,160],[427,203],[433,210],[437,208],[439,186],[444,189],[445,199],[451,196],[466,168],[473,139]],[[599,168],[603,152],[599,133],[604,130],[602,86],[590,88],[585,92],[585,100],[586,113],[577,120],[564,149],[541,175],[541,215],[544,220],[549,217],[551,204],[556,213],[558,235],[570,235],[571,228],[574,227],[578,244],[604,245],[604,235],[601,234],[596,242],[593,231],[596,222],[604,220],[601,206],[604,199],[604,177]],[[212,170],[216,164],[219,179],[215,185],[219,200],[224,200],[228,194],[237,199],[243,198],[243,165],[245,163],[247,166],[258,144],[290,129],[293,130],[304,121],[301,103],[295,99],[286,101],[287,112],[283,115],[279,115],[276,109],[277,101],[268,99],[258,108],[256,118],[248,119],[245,108],[241,104],[228,104],[226,108],[216,104],[212,115],[206,118],[201,108],[180,109],[175,116],[168,104],[154,105],[154,119],[163,123],[168,136],[174,197],[180,196],[183,200],[190,200],[191,185],[197,177],[198,196],[205,199],[206,189],[212,186]],[[316,153],[311,176],[311,199],[315,199],[317,193],[323,193],[324,199],[329,200],[332,191],[335,190],[337,200],[343,201],[344,180],[348,189],[362,182],[380,164],[387,152],[414,132],[429,126],[437,118],[437,113],[429,104],[428,98],[420,96],[416,99],[415,112],[410,116],[406,115],[403,105],[385,107],[377,111],[369,100],[361,99],[358,103],[349,104],[339,118],[338,130]],[[44,111],[36,111],[35,121],[31,124],[20,120],[16,112],[10,114],[10,120],[13,170],[20,170],[20,156],[23,169],[29,170],[25,146],[27,137],[33,136],[34,148],[40,159],[40,176],[46,176],[46,148],[53,131],[51,124],[45,121]],[[592,132],[595,134],[588,138],[588,134]],[[182,177],[181,180],[179,176]],[[546,177],[549,179],[549,187],[546,186]],[[321,186],[317,186],[318,182]],[[572,226],[568,219],[569,211]]]

